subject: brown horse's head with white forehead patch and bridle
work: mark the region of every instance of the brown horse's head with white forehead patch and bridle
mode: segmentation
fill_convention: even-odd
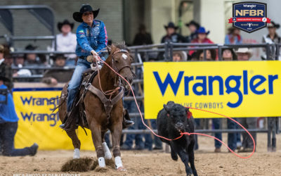
[[[122,75],[130,84],[133,82],[134,73],[131,70],[131,63],[133,62],[133,58],[129,54],[129,50],[126,48],[125,44],[112,44],[109,48],[107,47],[108,53],[111,57],[110,65],[117,73]],[[116,73],[111,72],[112,77],[116,75]],[[129,89],[129,85],[121,79],[122,84],[126,89]]]

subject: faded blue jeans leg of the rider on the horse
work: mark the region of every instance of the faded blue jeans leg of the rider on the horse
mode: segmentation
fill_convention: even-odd
[[[80,83],[82,81],[82,74],[88,68],[91,68],[91,63],[84,59],[78,58],[74,73],[67,87],[67,112],[70,112],[72,108],[73,101],[75,99],[75,96],[77,95]]]

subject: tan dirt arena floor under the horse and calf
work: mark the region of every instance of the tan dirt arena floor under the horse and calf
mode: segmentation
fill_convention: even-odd
[[[268,153],[266,134],[258,134],[256,153],[249,159],[238,158],[222,146],[214,153],[214,140],[200,137],[200,149],[195,152],[198,175],[281,175],[281,136],[277,135],[277,152]],[[223,135],[223,142],[226,141]],[[249,153],[242,153],[247,156]],[[81,157],[96,157],[94,151],[81,151]],[[62,165],[72,158],[72,151],[39,151],[36,156],[0,156],[0,175],[185,175],[181,161],[172,161],[163,151],[122,151],[126,172],[107,168],[105,172],[61,172]]]

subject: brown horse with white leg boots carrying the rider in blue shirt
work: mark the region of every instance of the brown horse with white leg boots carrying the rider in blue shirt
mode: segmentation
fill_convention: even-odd
[[[126,46],[124,44],[112,45],[111,49],[107,48],[107,50],[109,52],[109,56],[107,57],[105,63],[110,65],[111,68],[113,68],[117,73],[122,75],[122,77],[131,83],[133,80],[133,72],[131,70],[131,63],[133,59],[129,55]],[[91,85],[100,90],[100,92],[107,92],[114,90],[117,87],[128,86],[124,80],[119,79],[119,76],[105,64],[103,65],[103,68],[100,69],[99,75],[93,78]],[[83,90],[80,91],[80,96],[82,95],[82,92]],[[107,99],[114,99],[119,92],[120,91],[115,91],[111,97],[104,94],[104,97]],[[66,115],[66,95],[67,84],[63,88],[61,96],[62,98],[60,99],[61,106],[58,108],[59,117],[62,122]],[[87,125],[84,125],[84,127],[87,127],[91,130],[99,166],[105,167],[105,159],[112,158],[104,138],[105,132],[110,130],[112,134],[112,153],[115,157],[116,168],[117,170],[125,170],[122,165],[119,147],[123,121],[122,98],[118,99],[118,101],[112,106],[111,111],[108,111],[108,109],[105,107],[105,103],[103,103],[101,99],[91,91],[86,92],[84,99],[81,99],[81,103],[84,105],[84,112],[86,114],[87,121]],[[75,115],[79,116],[79,113]],[[81,125],[81,123],[79,123],[79,125]],[[83,127],[83,125],[81,126]],[[74,146],[73,158],[79,158],[80,141],[75,132],[75,128],[72,130],[66,130],[66,132],[67,135],[72,139],[72,144]]]

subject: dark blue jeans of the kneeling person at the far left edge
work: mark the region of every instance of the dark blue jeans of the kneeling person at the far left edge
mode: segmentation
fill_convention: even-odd
[[[15,149],[14,137],[18,130],[18,122],[0,123],[0,144],[4,156],[27,156],[31,154],[29,147]]]

